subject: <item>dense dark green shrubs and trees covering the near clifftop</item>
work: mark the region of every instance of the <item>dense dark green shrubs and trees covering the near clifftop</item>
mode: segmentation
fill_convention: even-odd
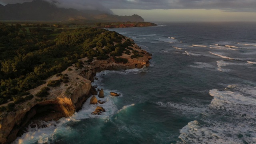
[[[96,28],[67,28],[57,24],[4,24],[0,22],[0,104],[14,100],[23,102],[25,92],[45,84],[45,79],[56,74],[59,81],[50,81],[47,86],[69,82],[60,72],[72,64],[82,68],[86,62],[106,60],[110,56],[128,54],[134,44],[120,34]],[[114,45],[114,43],[116,45]],[[133,49],[132,49],[133,50]],[[130,53],[129,53],[130,54]],[[116,59],[116,62],[126,60]],[[48,87],[46,87],[48,88]],[[43,89],[36,96],[48,95]]]

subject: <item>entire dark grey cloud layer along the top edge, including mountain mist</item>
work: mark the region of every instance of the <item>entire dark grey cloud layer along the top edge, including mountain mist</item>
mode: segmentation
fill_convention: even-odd
[[[32,0],[0,0],[22,3]],[[48,0],[50,1],[50,0]],[[78,9],[220,9],[234,12],[256,12],[256,0],[55,0],[59,6]]]

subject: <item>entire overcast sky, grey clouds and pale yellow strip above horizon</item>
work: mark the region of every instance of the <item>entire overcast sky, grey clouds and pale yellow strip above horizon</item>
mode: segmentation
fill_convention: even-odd
[[[0,4],[32,0],[0,0]],[[51,1],[51,0],[47,0]],[[145,21],[256,21],[256,0],[54,0],[58,6],[138,14]]]

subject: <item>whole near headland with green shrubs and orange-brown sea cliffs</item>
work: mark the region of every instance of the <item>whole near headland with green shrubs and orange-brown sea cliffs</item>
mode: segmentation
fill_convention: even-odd
[[[132,39],[104,29],[0,26],[0,41],[12,42],[0,45],[2,144],[11,143],[30,123],[80,110],[97,94],[91,85],[96,72],[142,68],[151,59]]]

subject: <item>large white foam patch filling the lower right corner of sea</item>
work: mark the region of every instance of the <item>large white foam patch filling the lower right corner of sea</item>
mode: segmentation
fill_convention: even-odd
[[[256,88],[230,85],[210,90],[213,100],[204,118],[189,122],[180,130],[182,143],[252,144],[256,142]],[[179,142],[178,142],[179,143]]]

